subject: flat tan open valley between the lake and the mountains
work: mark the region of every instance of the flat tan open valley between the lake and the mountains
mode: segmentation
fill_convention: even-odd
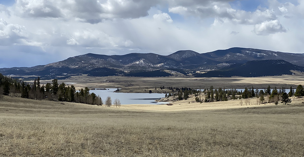
[[[304,84],[304,75],[282,75],[282,76],[265,76],[265,77],[223,77],[223,78],[196,78],[192,76],[170,76],[170,77],[123,77],[123,76],[106,76],[106,77],[90,77],[86,75],[72,76],[66,80],[58,80],[58,83],[74,83],[73,85],[79,89],[89,88],[122,88],[120,92],[125,93],[163,93],[164,90],[153,91],[155,87],[188,87],[205,89],[210,86],[222,87],[226,89],[245,87],[254,87],[264,89],[267,86],[274,88],[292,86],[296,88],[299,84]],[[51,83],[51,80],[41,81],[41,83]]]

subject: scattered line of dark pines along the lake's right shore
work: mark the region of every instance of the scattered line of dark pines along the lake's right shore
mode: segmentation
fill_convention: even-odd
[[[155,87],[156,89],[156,87]],[[165,89],[164,86],[161,86],[160,89]],[[245,88],[244,91],[238,91],[237,89],[225,89],[225,88],[206,88],[203,91],[201,89],[193,88],[177,88],[177,87],[167,87],[171,92],[166,93],[165,97],[176,97],[178,100],[187,100],[189,95],[194,94],[196,102],[218,102],[218,101],[228,101],[232,99],[248,99],[248,98],[259,98],[259,103],[275,103],[278,105],[278,102],[281,101],[285,105],[291,102],[290,97],[304,97],[304,89],[302,85],[298,85],[296,91],[290,87],[290,91],[286,93],[284,87],[277,89],[274,87],[272,90],[270,86],[264,90],[255,89],[254,87]],[[204,97],[203,98],[201,98]],[[266,101],[265,97],[268,99]],[[203,100],[202,100],[203,99]]]

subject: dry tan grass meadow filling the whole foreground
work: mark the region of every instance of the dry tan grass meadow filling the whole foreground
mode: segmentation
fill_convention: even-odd
[[[304,105],[145,112],[5,97],[0,156],[304,156]]]

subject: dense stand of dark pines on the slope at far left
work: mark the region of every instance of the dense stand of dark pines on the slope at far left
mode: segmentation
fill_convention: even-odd
[[[90,89],[80,89],[76,92],[73,85],[65,86],[64,83],[58,84],[57,79],[52,80],[45,86],[40,84],[40,78],[30,84],[25,81],[13,79],[0,73],[0,95],[11,95],[21,98],[53,101],[78,102],[91,105],[102,105],[102,100],[95,93],[89,93]]]

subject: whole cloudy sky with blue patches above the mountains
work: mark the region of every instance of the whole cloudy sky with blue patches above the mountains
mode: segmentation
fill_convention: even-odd
[[[0,68],[87,53],[304,53],[304,0],[0,0]]]

